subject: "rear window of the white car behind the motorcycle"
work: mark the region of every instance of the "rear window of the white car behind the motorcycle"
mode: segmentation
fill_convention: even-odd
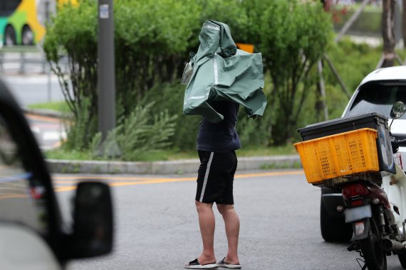
[[[346,116],[376,112],[390,118],[392,105],[401,101],[406,104],[406,85],[393,83],[370,83],[360,87]],[[400,119],[406,119],[406,114]]]

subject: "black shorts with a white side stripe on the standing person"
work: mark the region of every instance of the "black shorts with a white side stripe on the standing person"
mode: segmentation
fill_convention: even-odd
[[[237,167],[235,151],[227,153],[198,151],[200,166],[197,175],[198,202],[234,205],[233,181]]]

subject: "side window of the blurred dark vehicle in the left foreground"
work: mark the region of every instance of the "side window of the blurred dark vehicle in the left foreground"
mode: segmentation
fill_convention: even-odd
[[[17,222],[45,234],[45,188],[24,168],[19,144],[0,115],[0,222]]]

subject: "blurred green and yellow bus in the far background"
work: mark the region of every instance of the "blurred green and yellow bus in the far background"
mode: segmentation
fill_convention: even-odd
[[[37,44],[56,5],[68,2],[77,4],[77,0],[0,0],[0,46]]]

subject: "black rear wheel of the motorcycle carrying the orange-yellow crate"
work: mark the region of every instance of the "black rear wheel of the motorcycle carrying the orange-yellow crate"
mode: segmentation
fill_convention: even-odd
[[[360,240],[360,247],[369,270],[386,270],[386,252],[380,245],[381,233],[377,224],[373,218],[370,218],[368,237]]]

